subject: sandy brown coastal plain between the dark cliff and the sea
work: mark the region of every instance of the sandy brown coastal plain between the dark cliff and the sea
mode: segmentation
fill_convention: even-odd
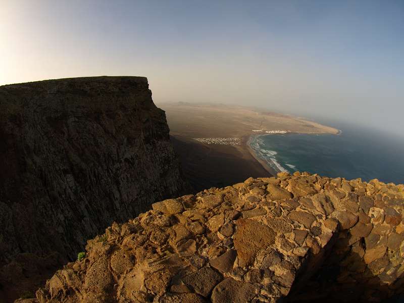
[[[195,191],[276,172],[249,148],[251,135],[265,131],[338,134],[339,130],[304,118],[241,106],[158,103],[166,112],[171,141],[183,173]],[[201,138],[240,138],[240,144],[207,144]]]

